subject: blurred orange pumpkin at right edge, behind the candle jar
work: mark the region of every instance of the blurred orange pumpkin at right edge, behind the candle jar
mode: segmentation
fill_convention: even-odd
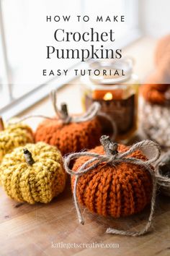
[[[155,61],[156,70],[148,77],[141,92],[146,101],[164,104],[167,100],[166,92],[170,88],[170,35],[158,41]]]

